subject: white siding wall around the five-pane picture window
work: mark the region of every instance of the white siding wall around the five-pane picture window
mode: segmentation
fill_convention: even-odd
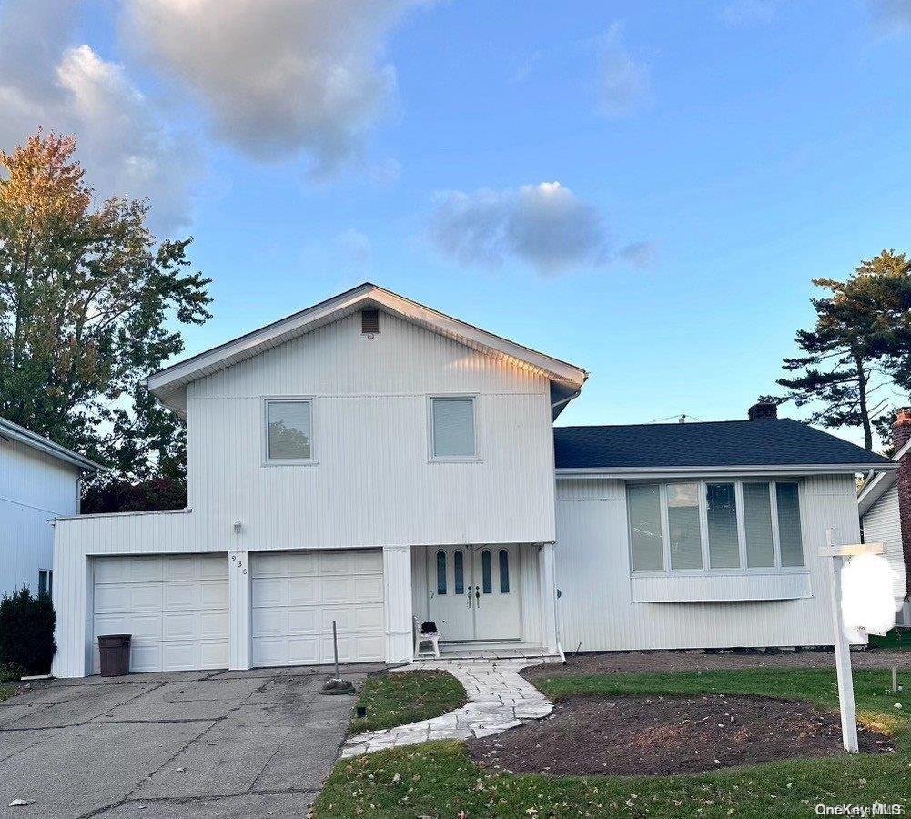
[[[818,549],[834,527],[860,537],[854,476],[801,484],[811,597],[750,602],[633,602],[625,484],[558,480],[557,585],[564,650],[831,645],[828,576]]]

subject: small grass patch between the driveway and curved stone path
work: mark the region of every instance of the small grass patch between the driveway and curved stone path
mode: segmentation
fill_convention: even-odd
[[[466,701],[462,683],[446,671],[395,671],[368,677],[357,701],[366,707],[367,716],[363,719],[355,716],[351,732],[429,720],[461,708]]]

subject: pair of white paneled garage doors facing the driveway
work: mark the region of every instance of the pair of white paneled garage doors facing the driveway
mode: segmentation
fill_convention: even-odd
[[[228,667],[228,555],[93,559],[93,671],[100,634],[133,635],[130,671]],[[249,554],[251,666],[384,659],[380,549]]]

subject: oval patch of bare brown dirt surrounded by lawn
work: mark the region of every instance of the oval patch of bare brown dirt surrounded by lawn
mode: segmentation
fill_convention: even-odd
[[[860,749],[893,750],[860,730]],[[670,775],[842,751],[837,716],[765,697],[573,697],[548,719],[479,740],[478,763],[514,773]]]

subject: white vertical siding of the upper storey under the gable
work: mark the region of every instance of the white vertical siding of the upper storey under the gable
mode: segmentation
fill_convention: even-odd
[[[372,341],[360,322],[189,385],[189,506],[210,548],[553,540],[548,379],[390,313]],[[478,463],[429,463],[434,394],[477,395]],[[312,397],[313,466],[263,466],[264,395]]]

